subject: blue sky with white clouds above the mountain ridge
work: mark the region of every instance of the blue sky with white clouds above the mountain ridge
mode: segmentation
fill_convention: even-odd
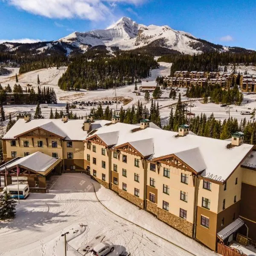
[[[0,0],[0,41],[52,41],[122,16],[197,38],[256,49],[255,0]]]

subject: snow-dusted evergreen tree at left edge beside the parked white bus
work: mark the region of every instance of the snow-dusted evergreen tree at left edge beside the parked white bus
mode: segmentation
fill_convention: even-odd
[[[4,191],[0,194],[0,219],[5,220],[15,217],[16,202],[11,195]]]

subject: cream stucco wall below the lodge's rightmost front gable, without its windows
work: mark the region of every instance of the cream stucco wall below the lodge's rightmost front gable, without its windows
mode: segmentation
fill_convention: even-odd
[[[163,176],[163,168],[170,169],[170,178]],[[181,172],[188,175],[188,184],[181,183]],[[187,211],[186,220],[193,223],[194,213],[194,192],[193,180],[191,172],[178,169],[166,164],[160,164],[160,173],[150,170],[148,163],[147,185],[150,185],[150,178],[155,179],[155,188],[157,189],[157,207],[163,209],[163,201],[169,203],[169,212],[173,215],[180,216],[180,208]],[[163,193],[163,184],[169,186],[169,195]],[[180,191],[187,192],[188,201],[180,200]]]

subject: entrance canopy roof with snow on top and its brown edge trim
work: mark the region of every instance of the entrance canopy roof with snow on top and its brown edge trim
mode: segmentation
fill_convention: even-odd
[[[61,162],[61,158],[50,157],[47,154],[41,152],[35,152],[26,157],[16,157],[10,160],[6,164],[0,166],[0,173],[5,172],[5,168],[15,169],[16,166],[20,166],[23,169],[30,170],[36,174],[46,176],[58,163]]]

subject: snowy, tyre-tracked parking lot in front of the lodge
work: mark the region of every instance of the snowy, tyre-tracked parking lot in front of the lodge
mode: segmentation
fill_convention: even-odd
[[[100,241],[113,242],[109,256],[217,255],[85,174],[52,178],[48,194],[31,194],[13,221],[0,222],[1,256],[63,256],[66,232],[67,256],[89,255]]]

